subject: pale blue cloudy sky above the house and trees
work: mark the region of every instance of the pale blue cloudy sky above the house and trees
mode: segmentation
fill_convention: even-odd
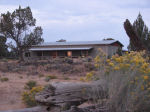
[[[0,13],[30,6],[45,42],[119,40],[127,49],[123,27],[141,13],[150,28],[150,0],[0,0]]]

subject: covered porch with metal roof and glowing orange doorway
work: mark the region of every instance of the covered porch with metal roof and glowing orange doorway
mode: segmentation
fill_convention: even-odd
[[[92,47],[82,48],[31,48],[30,57],[34,59],[50,59],[50,58],[78,58],[89,56]]]

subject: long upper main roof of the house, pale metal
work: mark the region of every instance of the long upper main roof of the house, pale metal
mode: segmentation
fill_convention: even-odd
[[[60,45],[110,45],[115,42],[118,42],[121,46],[123,46],[119,41],[117,40],[102,40],[102,41],[73,41],[73,42],[44,42],[39,45],[34,46],[60,46]]]

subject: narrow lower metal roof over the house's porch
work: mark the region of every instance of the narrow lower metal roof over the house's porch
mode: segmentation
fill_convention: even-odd
[[[90,50],[92,47],[78,47],[78,48],[31,48],[30,51],[57,51],[57,50]]]

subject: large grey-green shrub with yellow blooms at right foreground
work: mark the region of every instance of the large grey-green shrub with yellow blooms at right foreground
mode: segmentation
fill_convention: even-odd
[[[107,100],[111,112],[150,111],[150,63],[145,52],[95,59],[96,67],[108,84]]]

